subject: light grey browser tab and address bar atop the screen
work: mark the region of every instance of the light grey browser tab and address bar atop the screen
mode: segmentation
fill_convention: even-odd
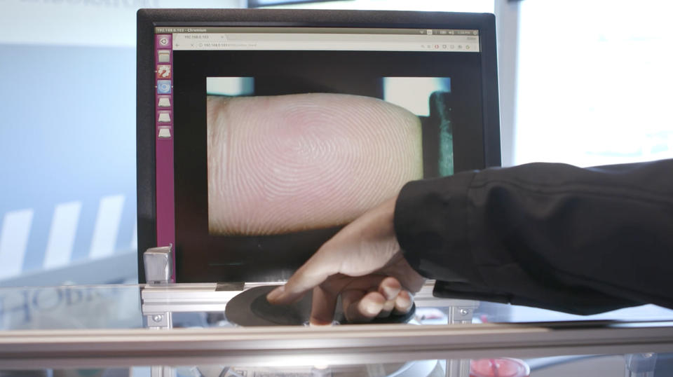
[[[479,52],[478,36],[399,34],[173,34],[173,50],[367,50]]]

